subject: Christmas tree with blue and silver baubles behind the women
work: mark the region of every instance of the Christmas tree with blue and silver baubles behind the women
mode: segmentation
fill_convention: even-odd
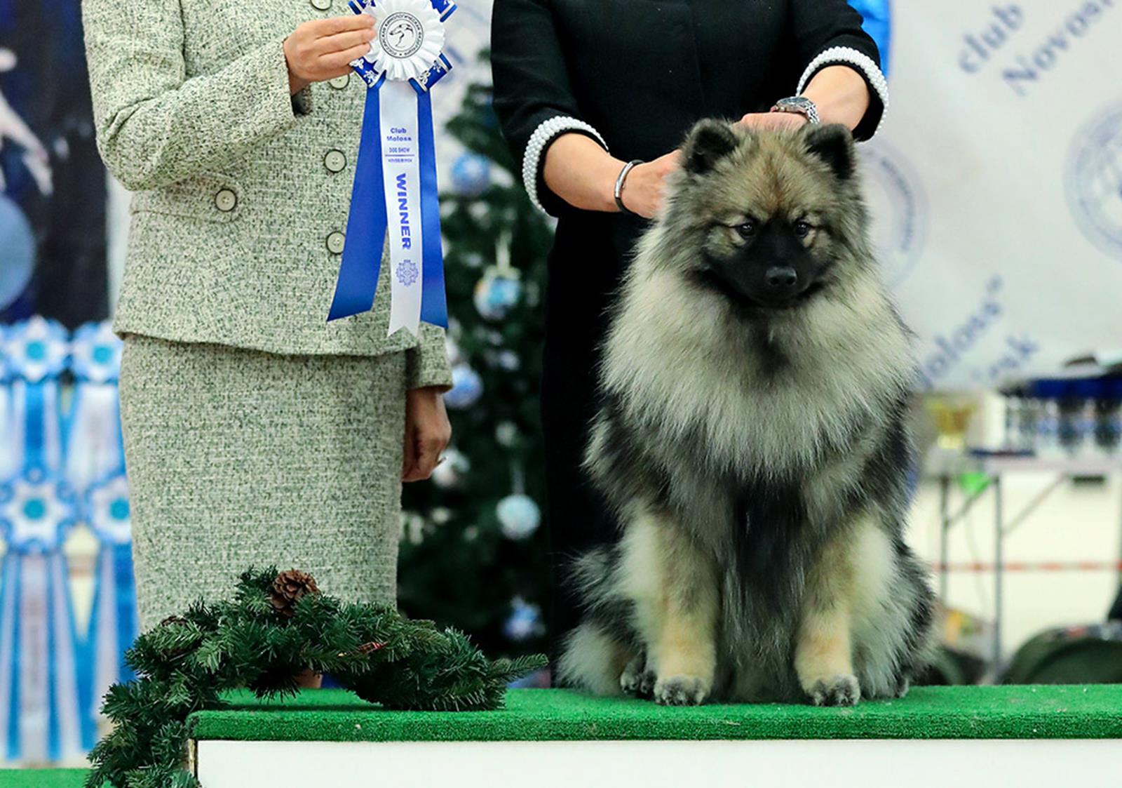
[[[398,594],[408,615],[499,656],[541,651],[545,634],[539,381],[552,232],[490,98],[472,85],[447,126],[465,148],[441,194],[453,437],[433,482],[405,488]]]

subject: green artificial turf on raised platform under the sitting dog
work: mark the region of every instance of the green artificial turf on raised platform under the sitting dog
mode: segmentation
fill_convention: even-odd
[[[388,712],[343,690],[261,702],[188,720],[196,740],[603,741],[752,739],[1119,739],[1122,685],[917,687],[853,708],[711,705],[666,708],[562,689],[514,689],[497,712]]]

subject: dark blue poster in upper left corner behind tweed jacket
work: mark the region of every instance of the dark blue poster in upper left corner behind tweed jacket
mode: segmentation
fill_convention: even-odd
[[[0,322],[108,312],[80,0],[0,0]]]

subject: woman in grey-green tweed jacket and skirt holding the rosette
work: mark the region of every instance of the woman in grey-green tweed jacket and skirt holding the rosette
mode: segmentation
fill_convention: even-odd
[[[373,20],[343,0],[84,0],[132,198],[114,327],[145,626],[250,563],[392,604],[401,482],[449,439],[443,332],[328,323]],[[383,273],[388,266],[383,266]],[[403,440],[404,437],[404,440]]]

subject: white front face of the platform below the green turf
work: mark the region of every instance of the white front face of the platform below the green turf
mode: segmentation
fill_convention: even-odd
[[[203,788],[1118,788],[1122,740],[202,741]]]

